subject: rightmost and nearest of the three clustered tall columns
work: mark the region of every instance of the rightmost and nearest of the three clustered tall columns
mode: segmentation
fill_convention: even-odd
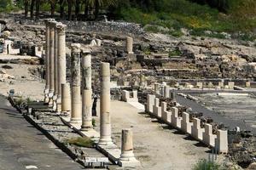
[[[66,25],[57,24],[58,33],[58,57],[57,57],[57,74],[58,74],[58,96],[57,96],[57,111],[61,111],[61,84],[66,83]]]

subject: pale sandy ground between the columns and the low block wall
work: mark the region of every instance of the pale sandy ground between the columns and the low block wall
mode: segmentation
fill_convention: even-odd
[[[141,169],[185,170],[191,169],[196,161],[208,158],[207,147],[138,111],[125,102],[111,102],[113,138],[120,146],[121,130],[132,129],[135,156],[142,162]]]

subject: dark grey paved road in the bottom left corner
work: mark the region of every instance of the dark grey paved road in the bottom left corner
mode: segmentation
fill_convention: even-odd
[[[0,170],[83,169],[0,96]]]

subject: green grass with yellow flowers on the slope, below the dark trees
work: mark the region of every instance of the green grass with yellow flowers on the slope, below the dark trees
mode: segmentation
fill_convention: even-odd
[[[186,0],[160,0],[159,2],[163,3],[158,4],[159,10],[146,11],[137,7],[120,8],[119,18],[139,23],[145,26],[146,31],[161,32],[175,37],[183,36],[181,28],[187,28],[191,30],[192,35],[202,37],[225,38],[221,32],[233,34],[239,31],[244,32],[244,35],[236,36],[237,39],[253,41],[256,37],[252,33],[256,27],[256,17],[252,17],[253,14],[251,14],[249,15],[251,17],[242,18],[246,16],[246,12],[242,9],[239,14],[233,14],[234,12],[224,14],[218,12],[216,8]],[[206,34],[205,31],[212,31],[212,34]]]

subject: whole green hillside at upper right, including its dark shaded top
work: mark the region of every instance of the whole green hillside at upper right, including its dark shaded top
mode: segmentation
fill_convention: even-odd
[[[233,37],[253,41],[256,28],[256,1],[254,0],[126,0],[119,2],[114,15],[120,20],[137,22],[148,31],[164,32],[181,36],[181,28],[191,35]],[[211,2],[211,3],[208,3]],[[215,2],[215,3],[214,3]],[[242,33],[241,33],[242,32]]]

